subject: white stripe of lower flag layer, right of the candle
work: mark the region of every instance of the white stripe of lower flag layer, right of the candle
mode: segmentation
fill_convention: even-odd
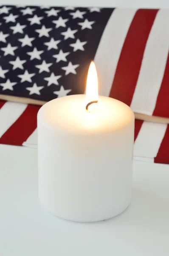
[[[143,122],[134,143],[134,157],[156,157],[166,128],[167,124]]]

